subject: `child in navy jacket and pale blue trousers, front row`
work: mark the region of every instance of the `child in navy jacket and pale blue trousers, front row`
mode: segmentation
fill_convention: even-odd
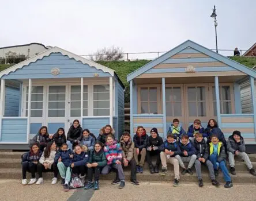
[[[72,151],[67,150],[67,144],[61,145],[61,150],[55,155],[54,162],[58,163],[59,174],[62,177],[61,185],[64,185],[64,191],[69,191],[69,181],[71,179],[70,162],[74,157]]]

